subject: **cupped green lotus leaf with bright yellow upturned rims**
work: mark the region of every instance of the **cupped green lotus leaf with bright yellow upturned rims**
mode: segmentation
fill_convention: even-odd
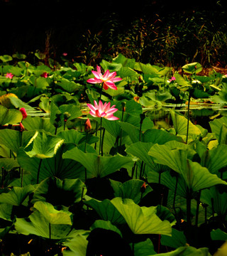
[[[50,158],[57,153],[57,149],[60,148],[63,142],[63,139],[51,134],[36,131],[24,151],[30,157]]]

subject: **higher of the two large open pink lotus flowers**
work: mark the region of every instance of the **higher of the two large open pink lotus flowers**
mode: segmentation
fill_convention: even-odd
[[[94,75],[94,78],[90,78],[87,80],[87,82],[90,83],[104,83],[104,90],[107,90],[108,88],[111,88],[113,90],[117,90],[118,88],[114,84],[114,82],[119,82],[122,80],[122,78],[115,78],[116,72],[109,73],[109,70],[106,70],[104,75],[101,74],[101,68],[97,65],[97,71],[92,70],[92,73]]]

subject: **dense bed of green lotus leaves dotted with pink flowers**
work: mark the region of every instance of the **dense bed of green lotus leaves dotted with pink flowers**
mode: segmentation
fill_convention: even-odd
[[[0,56],[2,255],[213,255],[227,233],[226,75],[34,58]],[[206,112],[206,127],[189,120]]]

